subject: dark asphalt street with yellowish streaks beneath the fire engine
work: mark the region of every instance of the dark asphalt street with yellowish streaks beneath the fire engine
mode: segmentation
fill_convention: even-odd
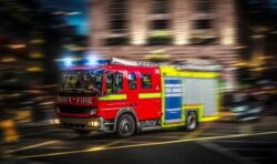
[[[1,145],[1,163],[277,163],[277,117],[209,122],[194,132],[158,130],[133,137],[79,136],[54,125],[20,130],[19,142]]]

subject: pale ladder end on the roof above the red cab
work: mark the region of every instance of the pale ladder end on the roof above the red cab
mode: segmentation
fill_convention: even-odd
[[[119,58],[112,58],[111,63],[119,63],[119,64],[124,64],[124,65],[141,65],[141,66],[157,66],[157,63],[153,62],[144,62],[144,61],[132,61],[132,60],[124,60],[124,59],[119,59]]]

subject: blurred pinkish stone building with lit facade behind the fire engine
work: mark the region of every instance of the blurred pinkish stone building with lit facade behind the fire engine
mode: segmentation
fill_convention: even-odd
[[[234,0],[91,0],[91,44],[101,58],[211,59],[233,81]]]

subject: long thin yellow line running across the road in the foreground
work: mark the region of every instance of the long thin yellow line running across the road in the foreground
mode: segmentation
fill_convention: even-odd
[[[110,151],[110,150],[122,150],[122,148],[134,148],[134,147],[144,147],[144,146],[165,145],[165,144],[174,144],[174,143],[183,143],[183,142],[192,142],[192,141],[220,140],[220,139],[258,136],[258,135],[268,135],[268,134],[277,134],[277,131],[264,132],[264,133],[253,133],[253,134],[223,135],[223,136],[214,136],[214,137],[211,136],[211,137],[198,137],[198,139],[183,139],[183,140],[175,140],[175,141],[153,142],[153,143],[143,143],[143,144],[134,144],[134,145],[114,146],[114,147],[105,147],[105,148],[103,148],[103,147],[95,148],[94,147],[94,148],[80,150],[80,151],[66,151],[66,152],[58,152],[58,153],[17,156],[14,158],[47,157],[47,156],[58,156],[58,155],[89,153],[89,152],[99,152],[99,151]]]

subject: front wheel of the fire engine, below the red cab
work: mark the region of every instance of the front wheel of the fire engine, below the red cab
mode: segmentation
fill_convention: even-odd
[[[116,123],[116,133],[121,137],[129,137],[135,133],[135,120],[130,114],[120,116]]]

